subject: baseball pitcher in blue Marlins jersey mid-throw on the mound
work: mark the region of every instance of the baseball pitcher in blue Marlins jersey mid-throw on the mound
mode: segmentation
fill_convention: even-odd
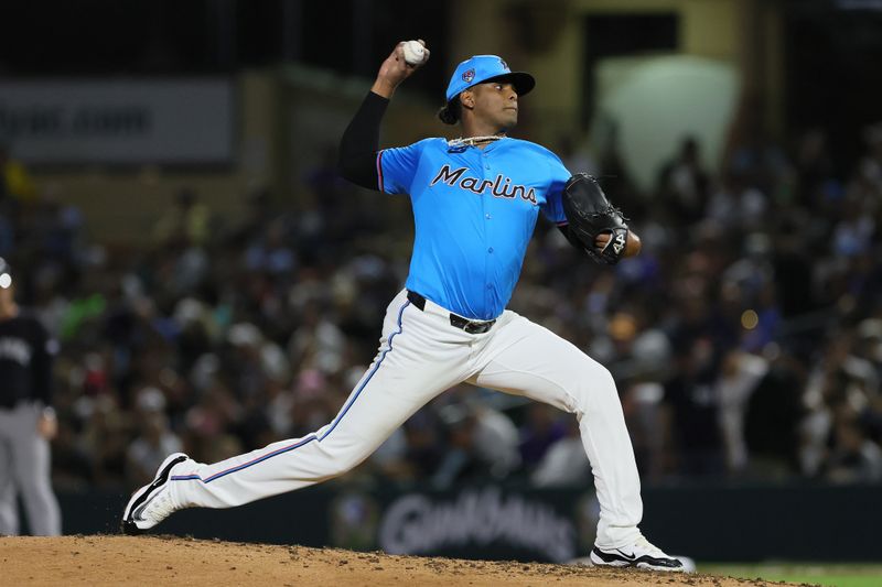
[[[183,508],[229,508],[338,476],[427,402],[469,382],[576,414],[601,506],[594,564],[681,570],[637,528],[639,477],[610,372],[505,308],[540,214],[604,263],[636,254],[639,239],[592,177],[571,177],[547,149],[507,135],[535,80],[495,55],[462,62],[450,79],[439,117],[459,123],[460,138],[379,149],[395,89],[429,57],[428,48],[411,50],[406,59],[405,47],[384,61],[340,145],[344,177],[409,197],[413,210],[410,272],[388,306],[374,362],[312,434],[213,465],[171,455],[132,494],[123,531],[153,528]]]

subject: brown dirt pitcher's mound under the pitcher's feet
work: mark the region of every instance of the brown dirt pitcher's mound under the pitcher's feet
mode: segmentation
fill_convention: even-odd
[[[390,556],[178,536],[0,537],[0,585],[745,587],[710,575]]]

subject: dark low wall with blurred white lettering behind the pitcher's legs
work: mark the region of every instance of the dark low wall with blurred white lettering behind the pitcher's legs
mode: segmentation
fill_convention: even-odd
[[[702,562],[882,561],[882,486],[690,482],[643,491],[647,536]],[[125,496],[61,493],[65,534],[115,533]],[[588,554],[593,490],[448,491],[326,485],[230,510],[186,510],[160,533],[398,554],[566,562]]]

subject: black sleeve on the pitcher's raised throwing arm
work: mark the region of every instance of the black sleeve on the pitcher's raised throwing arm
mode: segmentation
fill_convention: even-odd
[[[340,174],[368,189],[379,189],[379,123],[388,105],[387,98],[369,91],[340,140]]]

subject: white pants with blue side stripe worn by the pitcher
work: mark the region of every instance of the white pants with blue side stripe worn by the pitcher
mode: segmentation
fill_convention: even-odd
[[[506,311],[485,334],[451,326],[430,301],[402,291],[389,304],[379,352],[334,420],[214,465],[175,470],[182,507],[230,508],[300,489],[352,469],[417,410],[463,381],[525,395],[576,414],[600,502],[596,544],[620,547],[639,533],[639,477],[610,372],[576,346]]]

